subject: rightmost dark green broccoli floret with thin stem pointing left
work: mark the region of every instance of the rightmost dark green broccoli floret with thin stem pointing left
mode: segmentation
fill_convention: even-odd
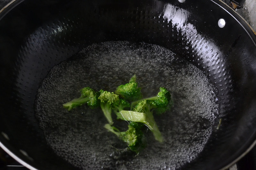
[[[170,105],[172,104],[172,101],[170,102],[171,94],[164,87],[159,88],[159,92],[157,93],[156,96],[146,98],[143,100],[148,100],[148,103],[151,105],[152,108],[154,108],[154,112],[157,114],[162,114],[162,113],[166,112],[170,108]],[[132,102],[131,108],[133,108],[135,105],[137,105],[138,102],[140,102],[140,101],[141,100]]]

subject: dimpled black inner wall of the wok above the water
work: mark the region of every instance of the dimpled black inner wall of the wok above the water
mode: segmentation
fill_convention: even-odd
[[[146,42],[196,65],[218,89],[220,129],[217,121],[203,152],[184,168],[227,165],[255,138],[256,50],[243,26],[220,6],[204,1],[22,2],[0,21],[0,127],[10,139],[1,136],[1,142],[37,168],[70,169],[47,146],[34,116],[41,81],[54,65],[92,43]],[[219,28],[223,17],[227,24]]]

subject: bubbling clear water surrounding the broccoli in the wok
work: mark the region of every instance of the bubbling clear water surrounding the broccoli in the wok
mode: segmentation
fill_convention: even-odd
[[[62,108],[85,86],[115,91],[133,74],[144,97],[155,96],[163,86],[174,101],[171,111],[155,115],[164,142],[157,142],[147,130],[148,146],[138,155],[125,151],[126,145],[103,127],[107,121],[100,109]],[[117,41],[88,46],[53,67],[38,89],[35,109],[48,144],[76,167],[177,169],[203,150],[218,114],[216,99],[216,88],[204,73],[172,51]]]

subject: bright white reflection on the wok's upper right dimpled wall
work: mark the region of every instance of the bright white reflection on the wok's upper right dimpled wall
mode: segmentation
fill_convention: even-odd
[[[172,24],[173,28],[181,30],[181,35],[184,40],[191,43],[191,48],[196,50],[196,54],[203,63],[208,63],[209,67],[214,64],[216,69],[221,68],[221,70],[228,70],[225,64],[220,64],[220,62],[218,62],[219,60],[224,59],[223,52],[212,40],[209,40],[207,37],[197,32],[193,23],[188,21],[190,15],[191,13],[188,10],[177,8],[173,4],[166,3],[158,17],[163,18],[168,24]],[[209,56],[211,56],[211,60],[209,60]],[[216,63],[220,65],[217,66]],[[221,71],[215,72],[214,70],[209,70],[209,74],[214,74],[216,77],[222,76]],[[229,74],[229,72],[226,72],[225,76],[228,78],[227,75]],[[229,83],[227,79],[223,79],[222,81],[223,84]],[[230,88],[232,88],[232,84],[230,84]],[[225,98],[228,98],[227,96],[229,95],[228,92],[225,92]],[[228,112],[224,108],[221,108],[220,114],[223,113]]]

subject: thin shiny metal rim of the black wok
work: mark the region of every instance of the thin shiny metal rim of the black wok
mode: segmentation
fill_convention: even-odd
[[[12,0],[11,2],[9,2],[7,5],[5,5],[1,10],[0,10],[0,20],[9,12],[11,11],[13,8],[15,8],[17,5],[19,5],[21,2],[23,2],[25,0]],[[211,0],[214,4],[219,5],[223,10],[225,10],[228,14],[230,14],[233,18],[236,19],[236,21],[244,28],[244,30],[246,31],[246,33],[250,36],[250,38],[252,39],[255,47],[256,47],[256,32],[253,30],[252,26],[249,25],[249,23],[240,15],[238,14],[234,9],[232,9],[230,6],[228,6],[227,4],[225,4],[223,1],[221,0]],[[232,11],[228,11],[226,8],[224,8],[223,6],[221,6],[220,4],[224,5],[226,8],[228,7],[228,9],[232,10]],[[233,12],[234,14],[231,14],[231,12]],[[246,24],[246,26],[248,26],[250,28],[250,30],[246,29],[246,27],[244,26],[243,23],[241,23],[239,21],[239,19],[242,19],[243,22]],[[250,139],[248,140],[249,143],[252,143],[251,145],[249,145],[249,147],[245,147],[247,148],[244,152],[242,152],[236,159],[234,159],[233,161],[231,161],[229,164],[227,164],[226,166],[222,167],[220,170],[226,170],[227,168],[231,167],[232,165],[234,165],[236,162],[238,162],[240,159],[242,159],[248,152],[250,152],[252,150],[252,148],[254,146],[256,146],[256,131],[254,132],[254,134],[251,136],[251,138],[254,138],[254,140],[252,140],[252,142],[249,142]],[[6,145],[3,144],[3,142],[0,139],[0,147],[7,153],[9,154],[13,159],[15,159],[17,162],[19,162],[21,165],[25,166],[26,168],[30,169],[30,170],[39,170],[37,168],[35,168],[34,166],[31,166],[30,164],[28,164],[26,161],[22,160],[20,157],[18,157],[14,152],[12,152],[8,147],[6,147]]]

